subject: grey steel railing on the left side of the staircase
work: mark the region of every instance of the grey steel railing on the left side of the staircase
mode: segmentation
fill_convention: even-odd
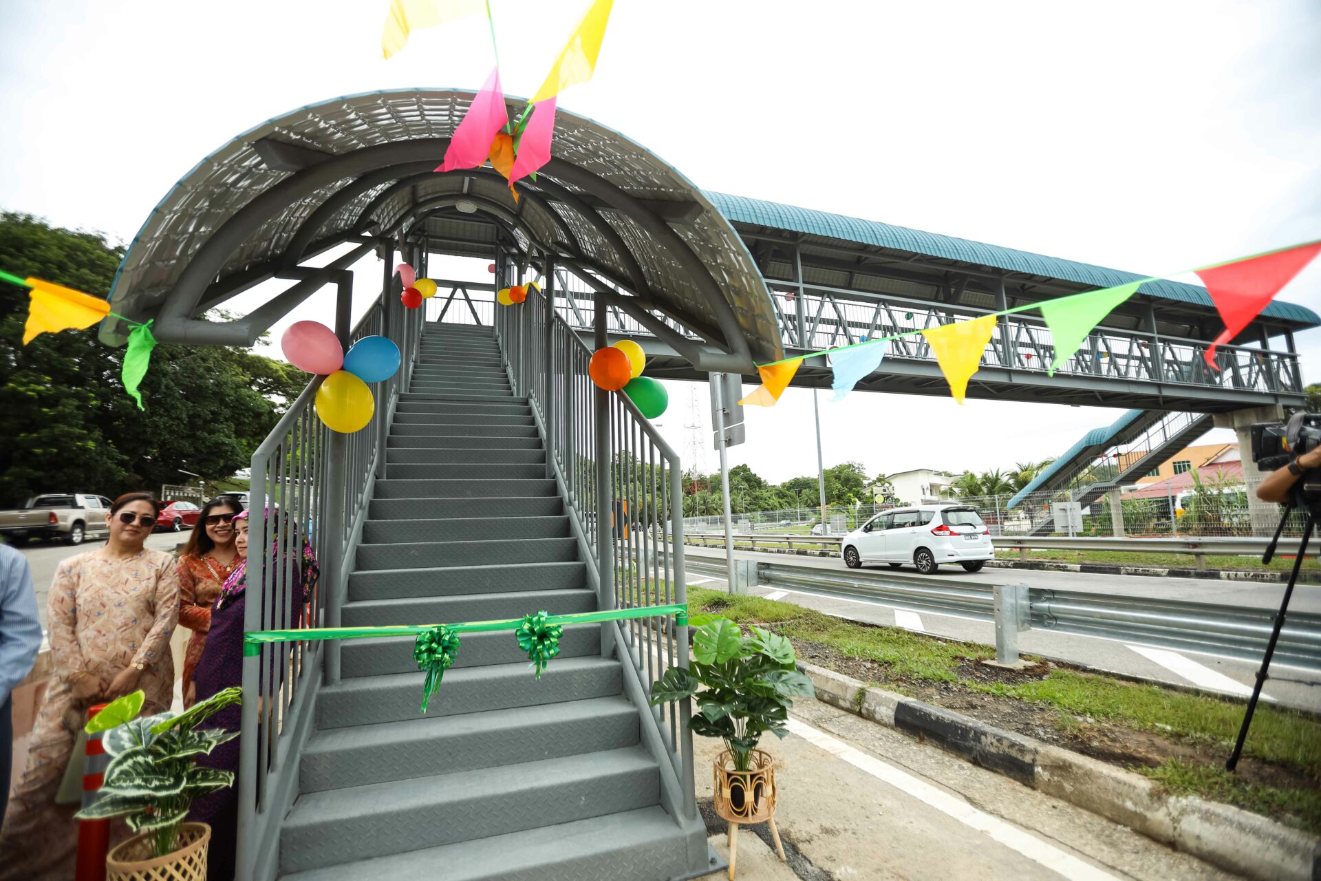
[[[380,334],[402,350],[400,370],[373,384],[369,425],[351,435],[326,428],[314,405],[322,378],[314,376],[252,454],[248,633],[339,625],[346,560],[361,536],[373,483],[384,476],[390,419],[407,388],[423,326],[417,310],[404,310],[390,296],[388,280],[384,291],[349,333],[350,345]],[[310,590],[300,576],[304,540],[320,567]],[[297,761],[310,734],[314,696],[322,675],[328,683],[338,680],[338,643],[320,642],[266,645],[243,659],[235,877],[275,877],[280,820],[297,795]]]

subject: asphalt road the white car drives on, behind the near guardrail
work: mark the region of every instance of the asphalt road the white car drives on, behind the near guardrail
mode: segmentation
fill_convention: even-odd
[[[694,557],[701,556],[708,560],[724,560],[724,551],[720,548],[688,547],[686,552]],[[736,551],[734,556],[785,565],[847,571],[844,563],[835,557],[789,556],[752,551]],[[911,567],[890,569],[881,565],[880,568],[869,567],[863,571],[917,575],[917,571]],[[945,572],[946,568],[939,571],[939,573]],[[939,577],[939,573],[937,577]],[[1279,608],[1284,593],[1284,585],[1281,584],[1210,581],[1202,579],[1156,579],[1083,572],[1040,572],[1034,569],[983,569],[978,573],[968,573],[962,568],[955,568],[948,571],[948,576],[951,580],[967,579],[987,585],[1028,584],[1034,588],[1053,588],[1085,593],[1177,598],[1210,605],[1223,604],[1271,609]],[[688,584],[712,589],[725,588],[723,579],[708,573],[690,573]],[[995,625],[989,621],[975,621],[933,612],[917,613],[897,609],[878,601],[845,600],[802,590],[785,590],[774,585],[754,586],[749,592],[785,602],[795,602],[853,621],[904,627],[950,639],[995,645]],[[1321,585],[1297,585],[1289,608],[1297,612],[1321,612]],[[1018,649],[1028,654],[1037,654],[1124,676],[1238,696],[1247,696],[1256,678],[1256,664],[1254,663],[1217,658],[1194,651],[1157,650],[1100,637],[1029,630],[1018,634]],[[1280,705],[1297,707],[1313,712],[1321,711],[1321,675],[1296,667],[1272,666],[1271,678],[1266,684],[1264,693],[1267,700],[1279,703]]]

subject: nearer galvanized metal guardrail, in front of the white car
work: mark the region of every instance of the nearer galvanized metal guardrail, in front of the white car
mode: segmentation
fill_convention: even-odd
[[[688,571],[723,576],[725,564],[715,557],[691,556]],[[1029,629],[1260,660],[1275,623],[1275,609],[1264,608],[988,585],[950,576],[834,572],[766,561],[757,563],[757,584],[991,621],[996,625],[996,655],[1001,662],[1017,658],[1017,634]],[[1321,614],[1289,613],[1275,663],[1321,671]]]

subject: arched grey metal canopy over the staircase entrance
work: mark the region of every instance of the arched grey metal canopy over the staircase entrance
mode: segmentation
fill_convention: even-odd
[[[365,92],[301,107],[235,137],[190,170],[137,232],[112,308],[156,321],[162,341],[251,345],[373,247],[402,243],[428,214],[503,226],[524,255],[605,279],[622,300],[701,335],[713,365],[752,372],[782,357],[766,284],[729,222],[672,166],[604,125],[556,114],[553,159],[515,202],[489,169],[435,173],[472,102],[464,90]],[[510,100],[511,115],[520,102]],[[421,227],[419,227],[421,229]],[[359,247],[328,268],[301,262]],[[199,320],[272,277],[297,284],[242,320]],[[122,343],[111,317],[100,329]]]

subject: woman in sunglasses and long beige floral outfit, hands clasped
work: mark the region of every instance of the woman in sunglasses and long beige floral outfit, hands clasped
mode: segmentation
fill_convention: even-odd
[[[87,708],[141,688],[144,716],[169,709],[178,572],[173,556],[143,547],[156,509],[151,493],[120,495],[106,515],[106,546],[55,572],[46,605],[54,670],[0,832],[0,880],[74,877],[77,827],[55,793]]]

